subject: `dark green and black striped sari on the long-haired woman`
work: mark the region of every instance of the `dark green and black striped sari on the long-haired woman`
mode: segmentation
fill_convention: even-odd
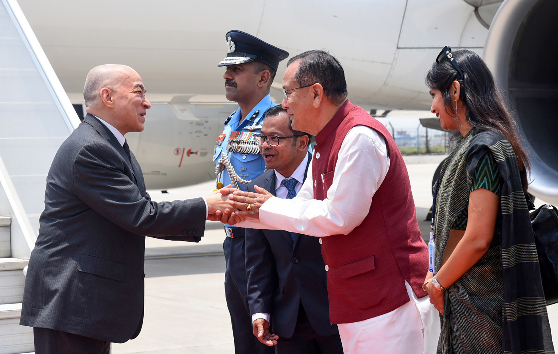
[[[450,229],[456,221],[466,227],[463,211],[470,191],[498,192],[500,207],[487,253],[444,294],[437,353],[554,353],[535,240],[509,141],[498,133],[471,130],[446,159],[439,185],[436,271]]]

